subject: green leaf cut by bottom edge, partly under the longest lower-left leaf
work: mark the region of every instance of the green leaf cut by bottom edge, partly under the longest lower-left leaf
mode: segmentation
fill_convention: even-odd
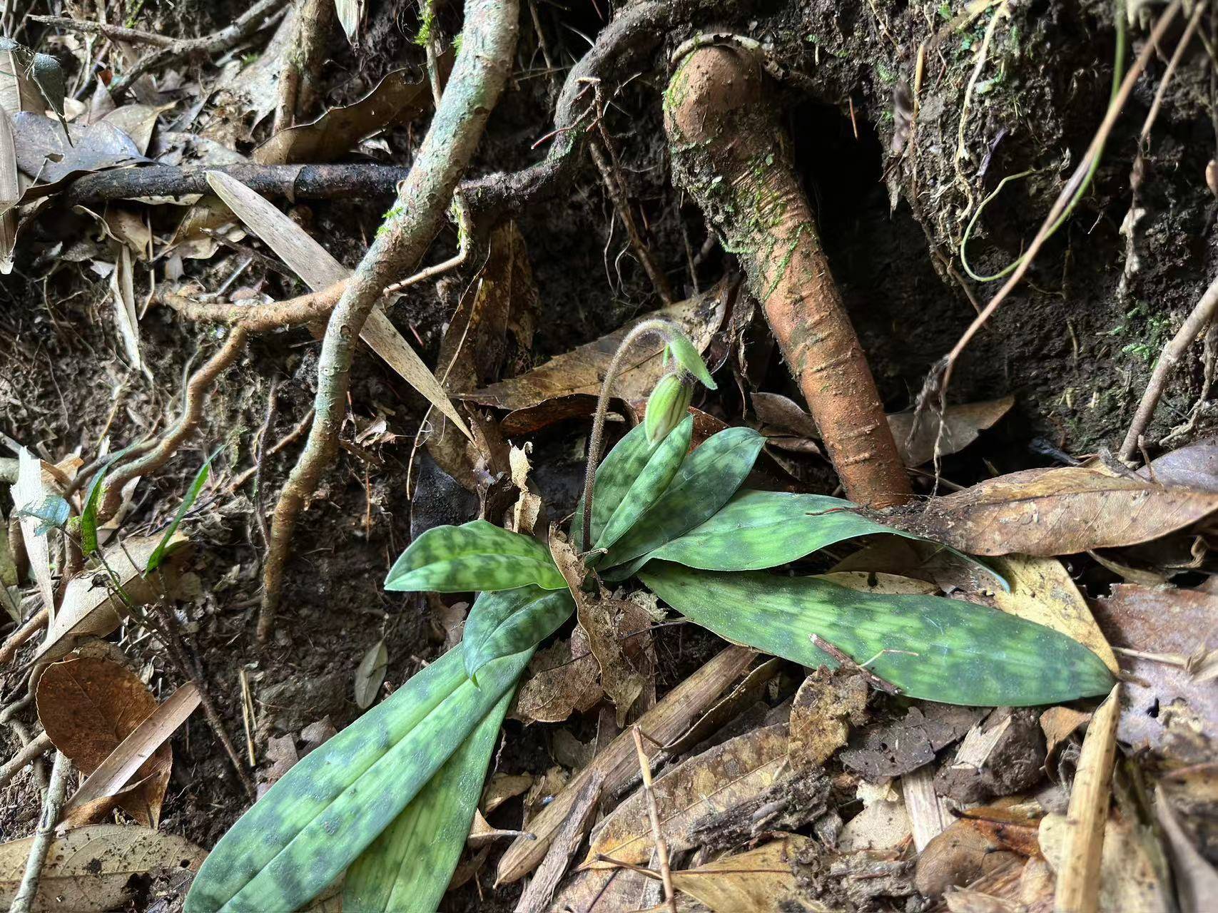
[[[347,869],[343,913],[432,913],[469,836],[482,782],[515,689]]]

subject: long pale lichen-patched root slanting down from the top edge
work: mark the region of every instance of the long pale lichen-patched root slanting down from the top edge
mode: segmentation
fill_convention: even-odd
[[[337,452],[359,331],[386,286],[395,276],[414,269],[440,229],[507,82],[518,19],[515,0],[466,0],[462,50],[414,167],[398,192],[398,205],[386,217],[330,315],[318,362],[313,426],[272,521],[258,615],[261,640],[274,628],[296,519]]]

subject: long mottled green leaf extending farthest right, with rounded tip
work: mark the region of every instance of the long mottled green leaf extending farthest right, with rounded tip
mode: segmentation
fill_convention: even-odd
[[[814,577],[653,561],[639,579],[720,637],[804,666],[836,666],[812,635],[901,693],[973,706],[1060,704],[1112,688],[1094,652],[1051,628],[943,596],[873,595]]]

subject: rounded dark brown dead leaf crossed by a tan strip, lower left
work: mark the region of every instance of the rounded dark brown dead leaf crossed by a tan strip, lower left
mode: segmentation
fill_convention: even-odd
[[[35,700],[46,735],[85,775],[99,769],[158,706],[139,676],[101,659],[51,663],[38,682]],[[162,739],[133,774],[135,786],[112,796],[113,805],[140,824],[157,827],[172,766],[173,752]]]

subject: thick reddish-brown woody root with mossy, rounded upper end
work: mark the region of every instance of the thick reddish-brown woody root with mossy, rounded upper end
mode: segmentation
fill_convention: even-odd
[[[909,477],[769,103],[772,94],[747,51],[691,51],[665,94],[674,175],[738,253],[847,497],[872,508],[903,504]]]

